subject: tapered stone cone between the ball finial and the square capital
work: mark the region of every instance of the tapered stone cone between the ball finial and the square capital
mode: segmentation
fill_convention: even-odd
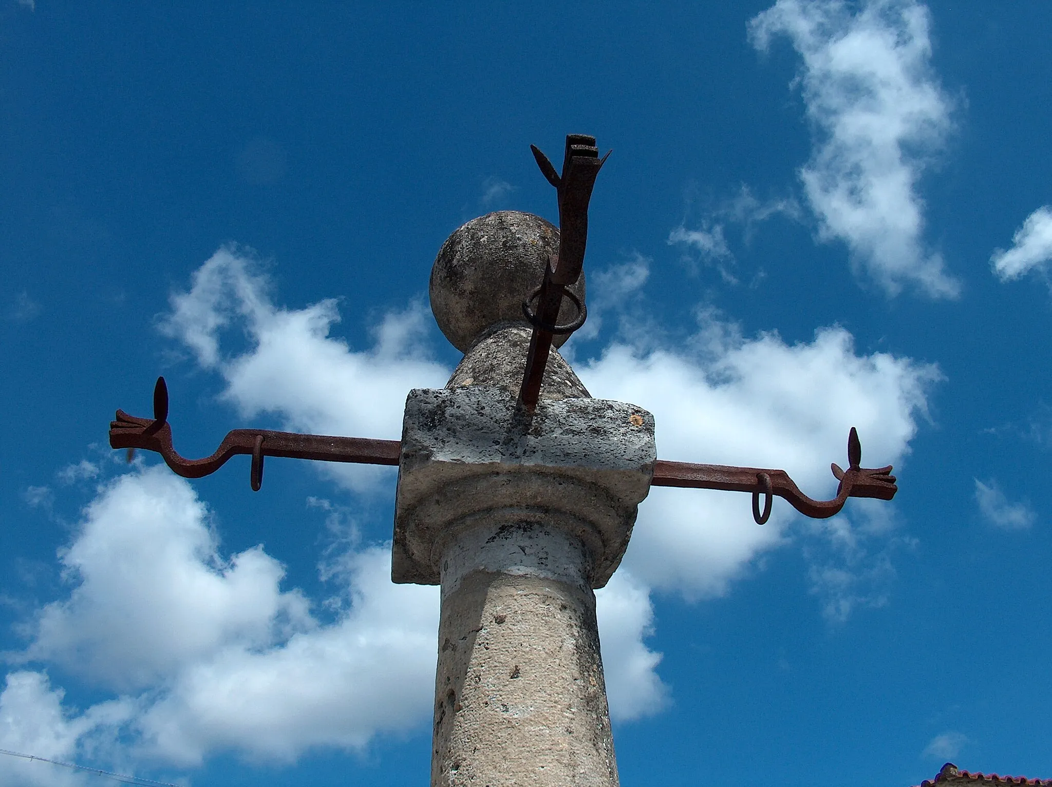
[[[525,325],[499,323],[484,331],[468,348],[446,388],[490,386],[519,395],[526,368],[526,352],[532,329]],[[544,369],[542,399],[582,398],[589,396],[570,365],[552,348]]]

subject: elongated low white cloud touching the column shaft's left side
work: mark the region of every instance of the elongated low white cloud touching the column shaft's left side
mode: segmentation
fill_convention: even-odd
[[[143,745],[185,765],[215,750],[291,762],[317,746],[361,749],[426,721],[439,595],[390,581],[389,546],[350,562],[349,613],[264,649],[230,645],[183,670],[141,721]]]

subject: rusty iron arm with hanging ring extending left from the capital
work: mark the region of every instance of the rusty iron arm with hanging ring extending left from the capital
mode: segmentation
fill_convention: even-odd
[[[398,464],[399,440],[373,440],[364,437],[329,437],[275,432],[266,429],[235,429],[228,432],[216,452],[204,459],[186,459],[171,444],[168,418],[168,389],[164,377],[158,377],[154,389],[154,417],[137,418],[123,410],[117,411],[109,423],[109,446],[115,449],[156,451],[164,463],[183,478],[201,478],[215,473],[239,454],[252,457],[249,480],[252,490],[263,483],[263,457],[318,459],[332,462],[363,464]]]

